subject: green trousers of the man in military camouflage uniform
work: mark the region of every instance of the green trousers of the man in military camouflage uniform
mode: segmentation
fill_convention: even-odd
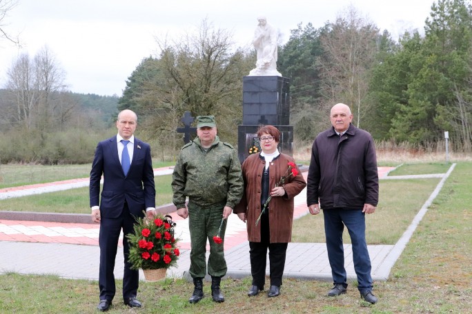
[[[217,207],[199,207],[188,203],[188,228],[190,230],[190,275],[192,278],[204,278],[206,275],[206,240],[210,242],[210,256],[208,258],[208,275],[223,277],[228,268],[224,259],[224,233],[226,231],[225,220],[219,237],[221,244],[215,243],[213,237],[218,234],[218,229],[223,219],[224,205]]]

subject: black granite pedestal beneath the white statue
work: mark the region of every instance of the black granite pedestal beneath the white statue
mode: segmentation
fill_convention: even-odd
[[[242,163],[257,145],[260,125],[273,125],[281,136],[279,151],[292,156],[293,127],[290,121],[290,79],[283,76],[244,76],[243,124],[238,126],[238,157]]]

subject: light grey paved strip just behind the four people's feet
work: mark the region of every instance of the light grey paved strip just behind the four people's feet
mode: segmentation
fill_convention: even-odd
[[[369,245],[373,280],[386,280],[377,275],[382,261],[393,245]],[[61,278],[98,280],[99,247],[95,245],[9,242],[0,241],[0,250],[8,254],[0,255],[0,273],[22,273],[39,275],[58,275]],[[208,254],[208,253],[207,253]],[[226,277],[244,278],[250,276],[249,244],[244,242],[226,251],[228,273]],[[344,246],[348,279],[354,280],[351,245]],[[21,256],[21,258],[14,258]],[[123,278],[123,248],[119,247],[115,264],[115,278]],[[186,278],[190,267],[190,250],[182,249],[177,266],[168,269],[168,277]],[[141,271],[140,271],[141,272]],[[269,273],[267,267],[266,273]],[[141,272],[141,280],[144,275]],[[331,280],[326,244],[289,243],[284,271],[285,278],[303,280]]]

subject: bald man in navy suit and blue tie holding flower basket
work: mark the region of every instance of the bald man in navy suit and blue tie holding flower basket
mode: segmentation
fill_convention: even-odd
[[[140,307],[136,299],[139,272],[130,269],[130,251],[126,234],[133,232],[136,217],[155,215],[154,170],[150,146],[133,135],[137,116],[131,110],[123,110],[117,118],[117,136],[97,145],[90,171],[90,208],[92,220],[100,222],[100,311],[108,311],[115,297],[115,258],[118,239],[123,229],[124,276],[123,299],[130,307]],[[100,180],[104,186],[99,202]]]

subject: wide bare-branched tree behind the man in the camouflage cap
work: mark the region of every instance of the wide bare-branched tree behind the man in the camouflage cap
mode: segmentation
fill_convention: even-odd
[[[130,77],[120,109],[131,106],[146,116],[146,132],[159,136],[162,144],[181,147],[176,127],[185,111],[194,117],[217,116],[219,134],[235,141],[234,125],[242,116],[242,77],[253,67],[253,59],[234,49],[232,34],[206,20],[196,32],[156,42],[159,56],[141,63]]]

